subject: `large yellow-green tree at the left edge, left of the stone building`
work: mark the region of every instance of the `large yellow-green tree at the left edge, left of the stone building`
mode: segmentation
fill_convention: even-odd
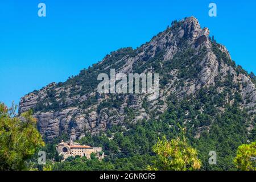
[[[44,146],[32,111],[23,113],[20,119],[16,117],[15,109],[0,104],[0,170],[26,169],[26,160],[38,147]]]

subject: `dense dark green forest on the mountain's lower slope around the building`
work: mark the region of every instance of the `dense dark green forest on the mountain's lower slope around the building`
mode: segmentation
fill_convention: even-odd
[[[203,94],[200,97],[202,100],[203,98],[206,100],[208,98],[209,100],[214,100],[214,102],[220,102],[214,97],[206,97],[208,94]],[[87,160],[84,162],[85,159],[71,159],[61,164],[55,163],[53,169],[94,170],[106,169],[107,167],[109,167],[108,169],[120,170],[146,169],[147,165],[151,164],[156,158],[152,151],[152,146],[156,144],[157,139],[165,136],[169,140],[179,136],[179,125],[187,127],[186,137],[188,138],[188,143],[199,152],[199,159],[202,163],[201,169],[236,169],[233,160],[238,146],[246,143],[246,140],[253,136],[253,133],[247,134],[246,132],[249,115],[237,106],[226,105],[224,113],[217,114],[216,119],[212,117],[212,112],[214,113],[214,111],[209,110],[207,111],[209,112],[208,114],[200,114],[200,117],[195,118],[196,107],[199,106],[195,105],[194,102],[196,100],[187,100],[182,105],[179,105],[175,104],[175,99],[173,99],[169,109],[160,115],[159,119],[143,120],[136,124],[128,123],[127,128],[129,130],[122,126],[113,126],[107,131],[106,135],[91,136],[86,134],[79,142],[91,146],[102,146],[106,154],[105,159],[102,161],[94,160],[93,162]],[[189,110],[190,114],[184,116],[183,113],[187,110]],[[191,122],[184,124],[184,121],[188,118],[193,119]],[[199,139],[194,137],[199,130],[193,125],[203,126]],[[210,126],[209,131],[207,126]],[[217,152],[217,165],[208,163],[209,151]],[[52,152],[55,154],[54,147]],[[134,160],[134,158],[138,159]],[[82,167],[76,167],[73,164]]]

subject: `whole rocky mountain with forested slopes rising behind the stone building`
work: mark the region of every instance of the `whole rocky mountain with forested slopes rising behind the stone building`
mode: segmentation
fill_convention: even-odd
[[[109,76],[110,69],[115,74],[158,73],[159,97],[98,93],[97,77]],[[255,83],[254,74],[236,65],[225,46],[209,37],[209,29],[189,17],[173,21],[137,49],[118,49],[65,82],[27,94],[19,114],[34,110],[46,141],[85,136],[82,143],[101,145],[118,158],[151,155],[158,137],[173,138],[185,127],[203,169],[236,169],[237,147],[256,140]],[[88,134],[102,133],[108,141],[88,139]],[[217,152],[217,166],[208,164],[209,151]]]

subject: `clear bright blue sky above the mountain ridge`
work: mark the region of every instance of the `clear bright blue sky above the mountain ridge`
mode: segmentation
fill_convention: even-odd
[[[39,18],[38,4],[47,17]],[[208,16],[210,2],[217,17]],[[139,47],[174,19],[195,16],[233,60],[256,73],[256,1],[1,0],[0,101],[65,81],[121,47]]]

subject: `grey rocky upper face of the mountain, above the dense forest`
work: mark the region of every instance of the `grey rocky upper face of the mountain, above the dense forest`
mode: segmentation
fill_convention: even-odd
[[[98,74],[109,74],[112,68],[115,73],[159,73],[159,98],[97,93]],[[137,49],[119,49],[66,82],[27,94],[20,100],[19,113],[33,109],[38,129],[48,140],[63,133],[82,137],[86,131],[97,134],[112,125],[125,127],[127,122],[158,118],[170,96],[180,102],[211,87],[217,93],[228,89],[225,103],[214,105],[219,112],[225,104],[233,104],[236,94],[241,97],[241,109],[255,112],[254,80],[233,63],[224,46],[209,39],[209,29],[202,29],[191,17],[174,22]]]

